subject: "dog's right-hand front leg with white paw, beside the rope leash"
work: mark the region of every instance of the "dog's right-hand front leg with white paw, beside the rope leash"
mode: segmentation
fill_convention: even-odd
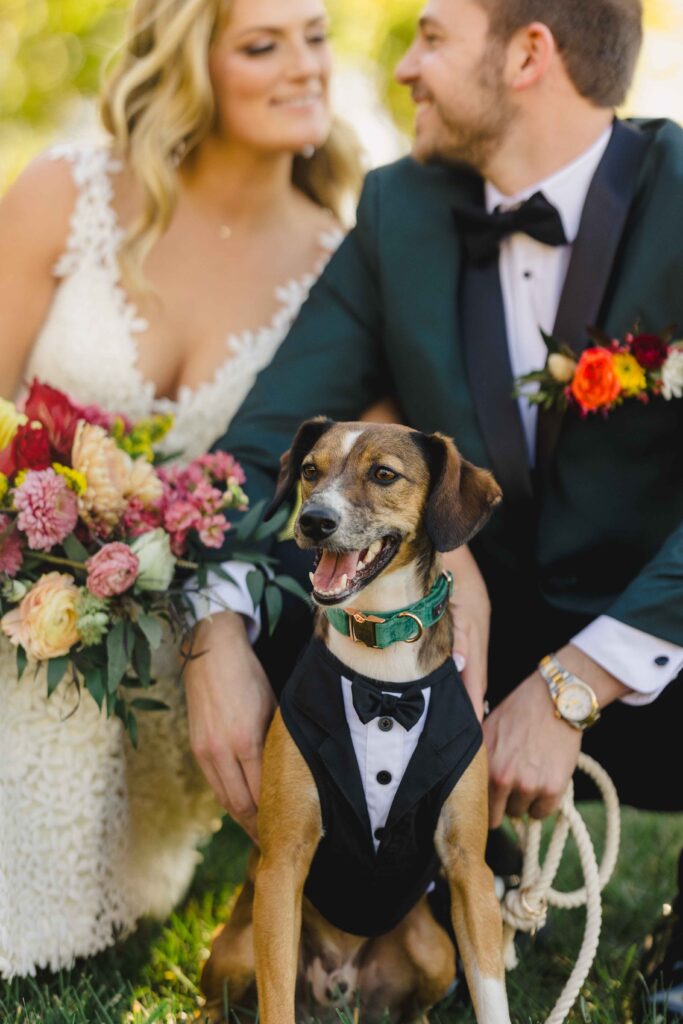
[[[444,803],[434,842],[451,888],[453,927],[477,1024],[510,1024],[501,910],[484,861],[487,804],[482,746]]]

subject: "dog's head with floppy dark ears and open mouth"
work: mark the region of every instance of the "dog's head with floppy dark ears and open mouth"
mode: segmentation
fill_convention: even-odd
[[[324,605],[346,603],[425,548],[465,544],[501,499],[490,473],[442,434],[322,418],[303,423],[283,456],[266,517],[298,481],[294,535],[318,551],[313,598]]]

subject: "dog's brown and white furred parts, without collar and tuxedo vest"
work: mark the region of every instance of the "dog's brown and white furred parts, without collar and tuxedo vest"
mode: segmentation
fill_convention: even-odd
[[[500,501],[490,474],[440,434],[319,419],[302,425],[283,457],[270,514],[299,481],[296,541],[318,551],[311,573],[318,642],[350,672],[381,682],[411,683],[446,664],[447,611],[415,642],[376,649],[332,629],[324,609],[388,614],[423,599],[441,572],[437,552],[464,544]],[[484,863],[486,808],[478,745],[438,813],[433,849],[477,1022],[510,1024],[501,916]],[[258,827],[260,856],[203,973],[212,1020],[223,1017],[225,991],[231,1006],[244,1000],[254,975],[264,1024],[293,1024],[297,981],[298,994],[308,987],[318,1007],[359,1006],[361,1021],[387,1012],[392,1021],[415,1020],[443,997],[455,978],[454,947],[424,895],[372,938],[333,927],[304,896],[324,820],[313,774],[280,711],[265,745]]]

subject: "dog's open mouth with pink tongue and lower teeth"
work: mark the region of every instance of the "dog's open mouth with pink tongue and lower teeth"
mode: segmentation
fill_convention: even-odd
[[[318,604],[337,604],[367,587],[386,568],[400,547],[400,537],[389,534],[360,551],[318,548],[310,573],[313,598]]]

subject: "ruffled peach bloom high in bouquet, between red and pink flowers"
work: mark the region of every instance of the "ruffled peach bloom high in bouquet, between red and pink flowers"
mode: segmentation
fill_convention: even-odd
[[[131,459],[102,427],[83,420],[76,429],[72,463],[87,481],[79,497],[81,516],[103,534],[117,525],[130,499],[148,507],[163,495],[162,482],[145,459]]]

